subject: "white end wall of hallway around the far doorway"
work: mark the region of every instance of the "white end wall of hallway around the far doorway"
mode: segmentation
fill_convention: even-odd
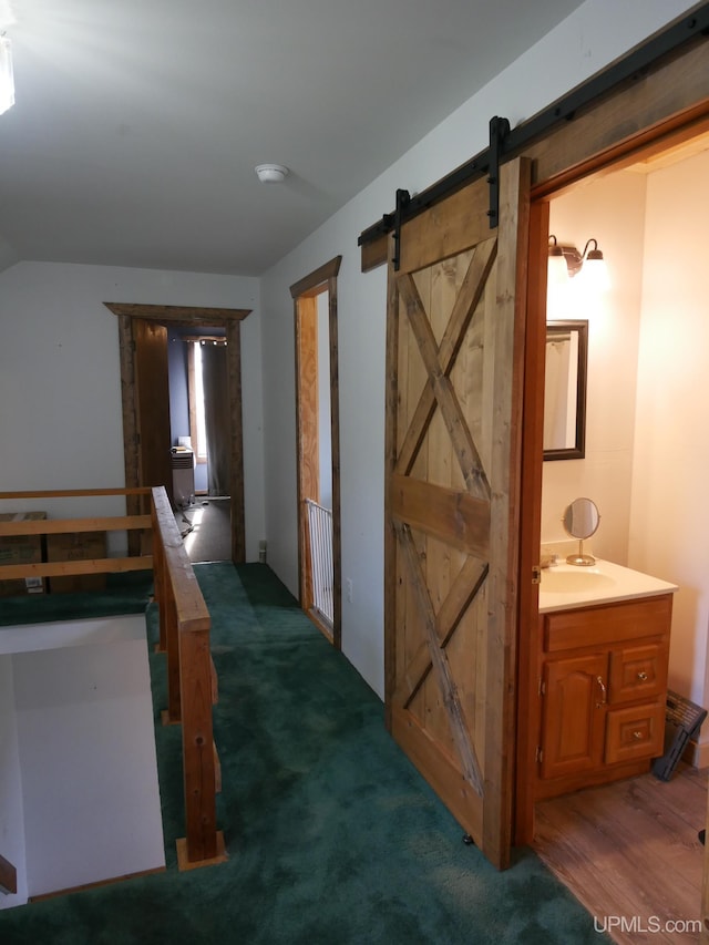
[[[1,273],[0,490],[125,484],[119,328],[105,301],[254,309],[242,322],[242,387],[246,549],[256,561],[265,524],[255,278],[52,263],[18,263]],[[122,510],[117,500],[48,507],[55,516]]]

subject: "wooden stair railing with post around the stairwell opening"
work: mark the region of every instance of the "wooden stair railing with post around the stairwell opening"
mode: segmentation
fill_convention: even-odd
[[[150,515],[3,522],[0,537],[152,530],[152,555],[0,565],[0,581],[153,569],[160,615],[158,648],[167,656],[168,707],[163,715],[167,723],[181,723],[183,730],[186,838],[177,841],[177,854],[181,869],[193,869],[226,859],[224,836],[216,829],[220,772],[212,706],[216,702],[217,682],[209,647],[209,612],[165,489],[0,492],[0,502],[136,494],[150,496]]]

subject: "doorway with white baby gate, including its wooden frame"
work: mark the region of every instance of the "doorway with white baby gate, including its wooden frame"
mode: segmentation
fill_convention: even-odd
[[[296,328],[300,606],[341,648],[337,274],[341,257],[290,287]]]

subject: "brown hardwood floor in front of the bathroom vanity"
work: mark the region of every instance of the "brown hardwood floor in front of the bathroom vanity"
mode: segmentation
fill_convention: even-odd
[[[534,848],[620,945],[698,942],[707,784],[680,766],[543,801]]]

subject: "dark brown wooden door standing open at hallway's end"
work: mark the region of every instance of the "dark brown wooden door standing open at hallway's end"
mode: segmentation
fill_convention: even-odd
[[[167,329],[164,325],[135,318],[133,338],[140,485],[164,485],[172,501]]]

